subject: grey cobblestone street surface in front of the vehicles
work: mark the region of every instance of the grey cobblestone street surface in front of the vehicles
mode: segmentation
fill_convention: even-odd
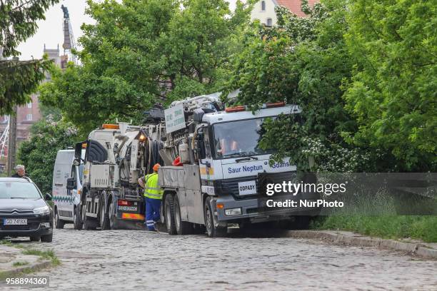
[[[56,230],[53,290],[437,290],[437,262],[293,238]],[[11,290],[17,290],[12,288]]]

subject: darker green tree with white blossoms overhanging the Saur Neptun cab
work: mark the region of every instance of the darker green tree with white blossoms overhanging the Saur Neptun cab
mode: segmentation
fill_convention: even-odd
[[[299,170],[368,169],[365,150],[343,140],[356,121],[344,109],[342,82],[351,78],[353,63],[343,34],[347,30],[343,1],[326,1],[306,18],[278,8],[278,27],[255,26],[246,32],[244,49],[235,59],[230,89],[240,88],[238,103],[253,109],[266,102],[286,101],[301,106],[300,116],[283,116],[266,123],[264,148],[276,148],[276,160],[291,157]]]

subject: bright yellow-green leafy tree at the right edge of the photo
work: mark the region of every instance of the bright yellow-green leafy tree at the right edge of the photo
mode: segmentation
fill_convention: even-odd
[[[395,170],[436,167],[436,13],[433,1],[350,6],[345,37],[355,63],[344,87],[359,130],[348,137],[390,151]]]

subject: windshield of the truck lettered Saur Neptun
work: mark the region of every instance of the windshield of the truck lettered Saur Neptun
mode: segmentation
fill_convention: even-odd
[[[273,153],[273,149],[262,150],[259,142],[265,132],[266,118],[231,121],[214,124],[214,147],[216,158],[236,158]]]

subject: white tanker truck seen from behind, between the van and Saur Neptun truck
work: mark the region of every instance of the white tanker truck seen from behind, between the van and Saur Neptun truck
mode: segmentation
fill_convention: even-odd
[[[84,163],[78,210],[86,230],[136,228],[144,223],[144,190],[137,180],[161,161],[162,142],[157,136],[161,131],[153,128],[104,124],[91,131],[86,141],[76,143],[75,163]]]

